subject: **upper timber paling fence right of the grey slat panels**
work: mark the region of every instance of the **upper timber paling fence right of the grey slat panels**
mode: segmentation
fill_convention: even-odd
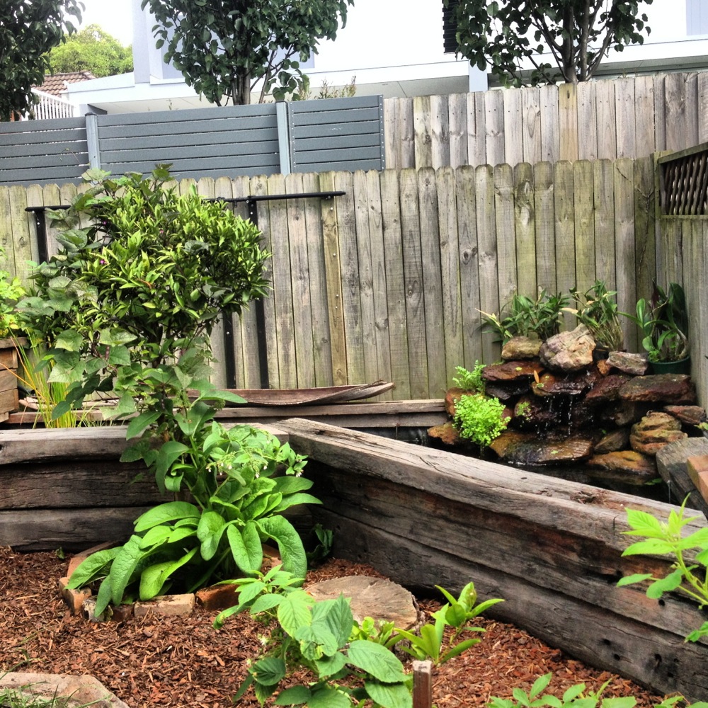
[[[641,158],[708,140],[708,72],[384,100],[386,166]]]

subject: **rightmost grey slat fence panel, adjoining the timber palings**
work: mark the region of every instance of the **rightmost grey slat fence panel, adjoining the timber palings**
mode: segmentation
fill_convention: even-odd
[[[384,169],[381,96],[294,101],[288,117],[293,172]]]

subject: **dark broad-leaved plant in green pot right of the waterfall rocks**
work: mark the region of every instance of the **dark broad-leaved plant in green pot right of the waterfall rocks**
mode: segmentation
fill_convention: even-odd
[[[639,326],[649,361],[680,361],[690,355],[686,296],[678,283],[670,283],[665,291],[655,282],[651,299],[637,301],[636,316],[623,314]]]

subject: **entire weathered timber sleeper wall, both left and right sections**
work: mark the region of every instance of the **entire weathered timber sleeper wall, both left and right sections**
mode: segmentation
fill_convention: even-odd
[[[324,502],[312,513],[335,532],[336,556],[411,589],[457,592],[472,580],[481,599],[505,599],[490,617],[655,692],[708,700],[708,641],[684,641],[706,613],[616,584],[668,568],[622,557],[627,506],[663,518],[675,507],[325,423],[278,427],[310,457]],[[139,466],[118,462],[125,445],[120,427],[0,431],[0,544],[80,550],[127,538],[164,500],[153,479],[129,484]]]

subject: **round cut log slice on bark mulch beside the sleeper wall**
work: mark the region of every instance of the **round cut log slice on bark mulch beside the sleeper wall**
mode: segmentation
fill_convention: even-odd
[[[393,622],[401,629],[418,624],[418,607],[413,595],[406,588],[383,578],[331,578],[304,589],[315,600],[336,600],[339,595],[349,598],[354,619],[360,623],[364,617],[372,617],[379,622]]]

